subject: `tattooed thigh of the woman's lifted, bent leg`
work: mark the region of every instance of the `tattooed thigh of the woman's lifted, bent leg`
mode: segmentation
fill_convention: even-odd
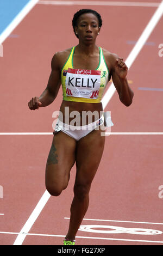
[[[76,141],[59,131],[53,137],[46,163],[46,187],[64,189],[75,162]]]

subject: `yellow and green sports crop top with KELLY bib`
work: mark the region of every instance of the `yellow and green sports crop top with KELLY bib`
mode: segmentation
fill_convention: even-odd
[[[99,47],[99,64],[96,70],[74,69],[72,47],[61,70],[63,100],[98,103],[101,102],[110,74],[102,48]]]

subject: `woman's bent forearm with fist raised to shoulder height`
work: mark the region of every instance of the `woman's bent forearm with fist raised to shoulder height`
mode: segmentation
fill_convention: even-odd
[[[112,82],[118,92],[121,102],[125,106],[130,106],[133,102],[133,90],[128,85],[127,72],[128,67],[123,62],[123,58],[119,58],[116,54],[112,54],[112,65],[111,65],[111,75]]]

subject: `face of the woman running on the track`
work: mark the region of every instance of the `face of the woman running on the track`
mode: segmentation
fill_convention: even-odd
[[[75,31],[78,33],[79,40],[95,41],[100,31],[98,18],[92,13],[82,14],[78,19],[78,26]]]

